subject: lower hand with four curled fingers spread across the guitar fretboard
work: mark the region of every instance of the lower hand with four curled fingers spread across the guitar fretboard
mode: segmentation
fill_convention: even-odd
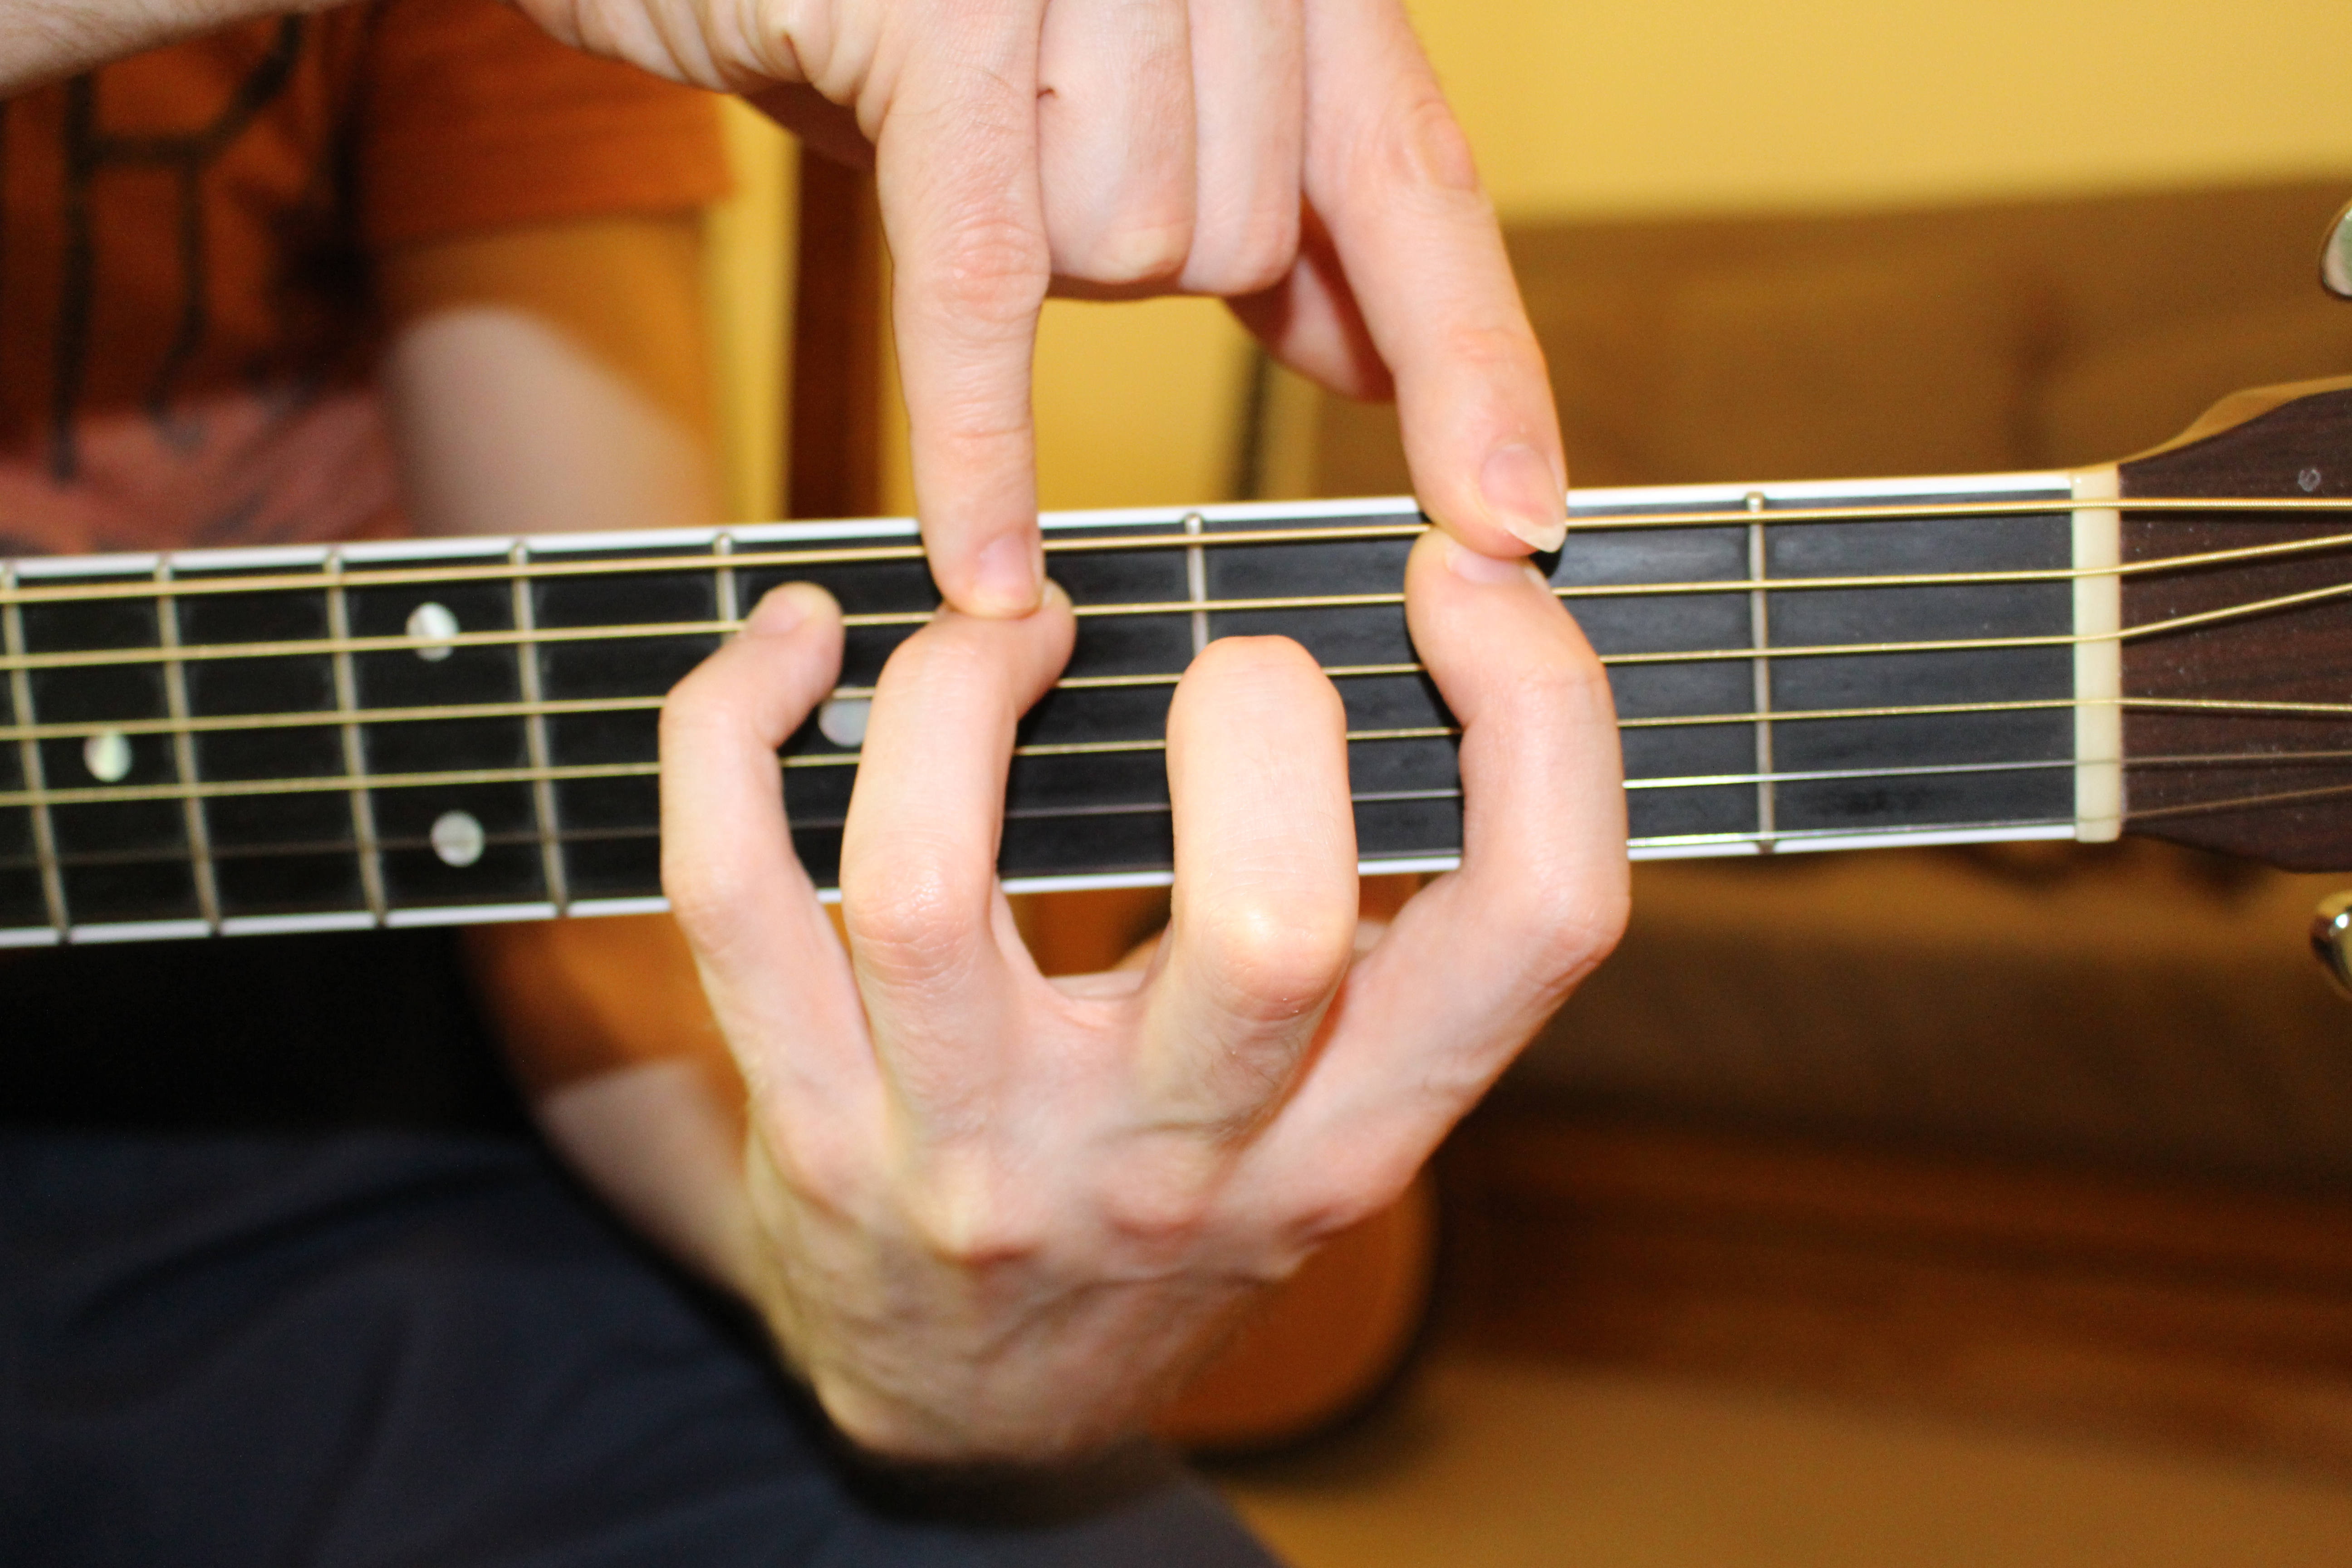
[[[842,630],[781,588],[661,722],[663,884],[750,1088],[746,1293],[856,1441],[1047,1458],[1134,1427],[1258,1286],[1390,1201],[1625,919],[1609,686],[1531,571],[1430,534],[1414,639],[1463,722],[1461,870],[1355,943],[1341,703],[1225,639],[1169,712],[1174,914],[1145,971],[1040,978],[995,882],[1040,614],[889,661],[842,844],[847,950],[776,748]]]

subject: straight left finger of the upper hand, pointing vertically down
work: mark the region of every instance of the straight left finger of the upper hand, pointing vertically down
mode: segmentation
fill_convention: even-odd
[[[875,136],[915,510],[948,604],[1025,616],[1044,583],[1030,428],[1051,282],[1037,181],[1044,5],[922,9]]]

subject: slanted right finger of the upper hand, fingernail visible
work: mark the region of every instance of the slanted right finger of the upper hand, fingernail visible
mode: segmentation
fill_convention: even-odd
[[[1557,550],[1569,465],[1543,350],[1397,0],[1308,7],[1305,195],[1395,374],[1421,503],[1486,555]]]

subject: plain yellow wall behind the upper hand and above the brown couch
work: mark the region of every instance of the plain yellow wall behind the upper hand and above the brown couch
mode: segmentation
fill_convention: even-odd
[[[2328,172],[2352,193],[2347,0],[1409,5],[1508,219]],[[1218,498],[1242,355],[1204,301],[1049,306],[1044,505]],[[903,461],[887,503],[913,503]]]

